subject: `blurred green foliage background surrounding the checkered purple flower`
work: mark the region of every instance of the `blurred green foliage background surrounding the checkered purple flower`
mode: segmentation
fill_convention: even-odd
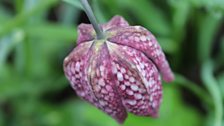
[[[80,100],[63,58],[88,23],[77,0],[0,0],[0,126],[118,126]],[[159,118],[124,126],[224,126],[224,0],[91,0],[100,23],[122,15],[158,39],[176,80]]]

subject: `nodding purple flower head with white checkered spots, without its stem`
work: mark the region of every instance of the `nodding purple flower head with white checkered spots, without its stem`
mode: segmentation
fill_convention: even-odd
[[[77,47],[65,58],[65,75],[77,95],[123,123],[127,112],[157,117],[162,100],[161,77],[174,79],[155,37],[120,16],[101,25],[96,39],[90,24],[78,27]]]

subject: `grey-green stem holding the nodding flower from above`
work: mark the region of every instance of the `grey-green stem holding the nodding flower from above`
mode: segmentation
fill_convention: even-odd
[[[96,21],[96,17],[93,14],[93,11],[88,3],[87,0],[80,0],[84,11],[86,12],[86,15],[88,16],[91,24],[93,25],[94,30],[96,31],[96,35],[97,35],[97,39],[103,39],[104,38],[104,34],[103,34],[103,30],[101,29],[101,27],[99,26],[99,24]]]

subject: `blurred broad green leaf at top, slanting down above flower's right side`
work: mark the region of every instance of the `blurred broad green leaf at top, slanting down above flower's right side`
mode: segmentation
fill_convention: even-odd
[[[169,36],[171,33],[170,24],[165,13],[158,9],[151,1],[148,0],[119,0],[120,5],[128,7],[137,20],[144,24],[152,33]],[[146,13],[147,12],[147,13]]]

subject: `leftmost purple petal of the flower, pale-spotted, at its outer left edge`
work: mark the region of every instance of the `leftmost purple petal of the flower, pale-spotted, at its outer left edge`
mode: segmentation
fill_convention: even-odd
[[[64,60],[64,72],[72,88],[81,98],[94,103],[93,91],[87,81],[86,64],[92,42],[79,44]]]

